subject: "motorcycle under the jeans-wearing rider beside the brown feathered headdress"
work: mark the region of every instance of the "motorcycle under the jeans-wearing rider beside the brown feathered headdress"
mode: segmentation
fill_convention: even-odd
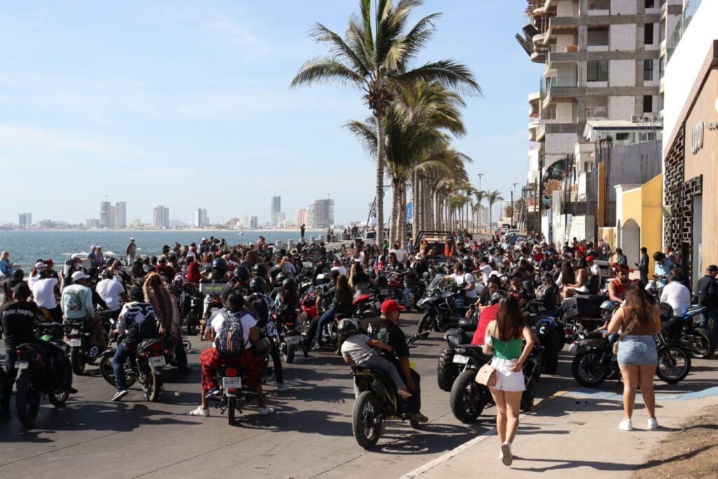
[[[122,339],[118,338],[118,342]],[[116,386],[112,365],[116,352],[116,348],[103,351],[100,361],[100,373],[111,386]],[[130,388],[139,382],[146,400],[157,401],[162,390],[162,375],[159,371],[167,365],[165,355],[170,353],[162,348],[162,342],[158,339],[140,341],[134,357],[130,356],[124,363],[126,386]]]

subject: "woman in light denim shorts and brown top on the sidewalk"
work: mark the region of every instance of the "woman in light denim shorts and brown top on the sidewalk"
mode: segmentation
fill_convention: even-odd
[[[624,431],[633,430],[635,391],[640,386],[648,413],[647,427],[657,429],[653,375],[656,374],[658,352],[653,335],[661,332],[661,309],[648,301],[645,289],[641,287],[631,286],[625,294],[625,302],[613,313],[608,325],[610,335],[619,328],[623,330],[618,343],[618,367],[623,376],[623,421],[618,427]]]

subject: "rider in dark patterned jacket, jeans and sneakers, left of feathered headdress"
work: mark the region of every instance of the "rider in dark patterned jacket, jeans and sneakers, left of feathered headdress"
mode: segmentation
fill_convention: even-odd
[[[134,287],[129,294],[130,302],[123,305],[117,318],[116,335],[125,335],[117,344],[117,351],[112,358],[112,370],[115,374],[117,392],[112,401],[121,401],[127,395],[125,378],[125,362],[134,356],[137,345],[142,340],[155,339],[157,333],[156,318],[151,304],[144,302],[144,293],[140,287]]]

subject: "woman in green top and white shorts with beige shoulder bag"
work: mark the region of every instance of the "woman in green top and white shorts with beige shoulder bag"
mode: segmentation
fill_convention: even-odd
[[[491,366],[496,368],[496,383],[489,389],[498,409],[496,429],[501,443],[498,457],[504,465],[513,462],[511,444],[518,430],[521,394],[526,389],[521,368],[532,348],[533,335],[516,297],[504,297],[498,303],[496,320],[486,327],[484,342],[485,352],[494,355]]]

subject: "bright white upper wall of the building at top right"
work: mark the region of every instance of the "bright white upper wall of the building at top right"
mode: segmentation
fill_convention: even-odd
[[[703,0],[684,36],[666,65],[663,82],[666,94],[663,99],[663,152],[671,147],[667,144],[683,118],[681,110],[696,80],[696,75],[708,54],[712,40],[718,39],[718,1]],[[687,132],[686,132],[687,133]]]

